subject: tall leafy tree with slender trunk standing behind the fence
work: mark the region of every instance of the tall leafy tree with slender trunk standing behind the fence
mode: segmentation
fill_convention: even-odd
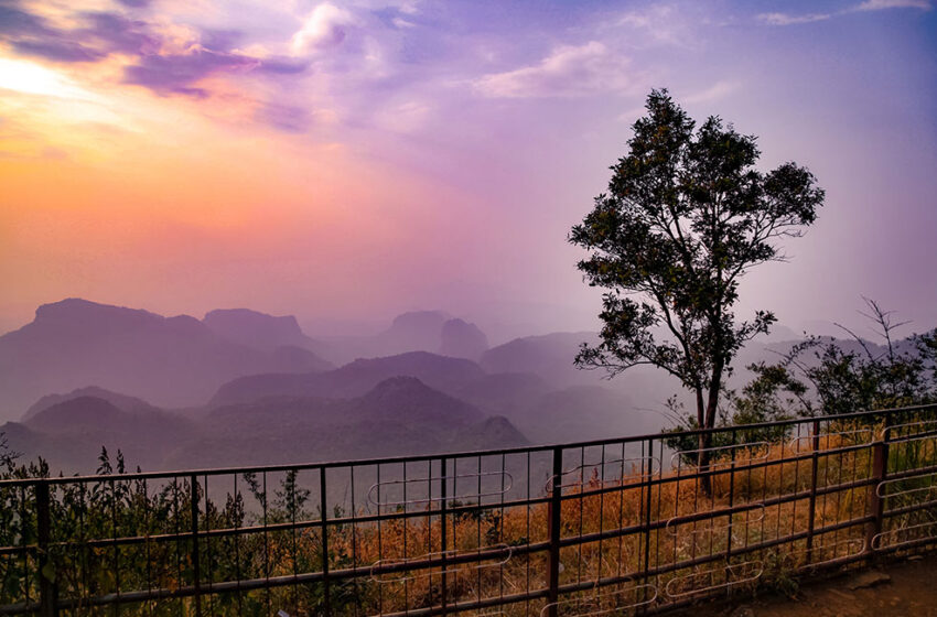
[[[575,361],[610,377],[661,368],[692,392],[690,424],[711,429],[733,357],[775,321],[757,311],[736,323],[739,283],[755,266],[785,259],[778,240],[816,220],[823,191],[795,163],[761,172],[754,137],[718,117],[696,129],[666,89],[653,90],[646,109],[608,192],[570,234],[591,251],[579,262],[584,279],[608,290],[600,343],[583,345]],[[708,444],[702,435],[700,466]]]

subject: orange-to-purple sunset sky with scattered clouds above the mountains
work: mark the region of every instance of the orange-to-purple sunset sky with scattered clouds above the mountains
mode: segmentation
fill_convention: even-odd
[[[660,87],[827,191],[740,317],[937,325],[931,0],[0,0],[0,332],[69,296],[594,328],[567,236]]]

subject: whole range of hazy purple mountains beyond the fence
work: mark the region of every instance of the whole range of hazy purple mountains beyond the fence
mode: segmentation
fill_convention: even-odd
[[[197,320],[69,299],[0,336],[0,432],[14,451],[90,470],[101,445],[157,469],[661,429],[679,383],[647,368],[614,380],[578,370],[580,345],[595,340],[551,333],[489,347],[476,325],[440,311],[405,313],[376,335],[309,336],[293,316],[246,308]],[[752,344],[736,366],[793,344]]]

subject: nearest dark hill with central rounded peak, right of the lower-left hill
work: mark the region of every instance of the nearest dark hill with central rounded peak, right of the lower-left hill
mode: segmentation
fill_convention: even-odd
[[[368,458],[518,446],[526,437],[506,419],[419,379],[384,380],[351,399],[265,399],[217,408],[200,421],[202,440],[170,466],[243,465]]]

